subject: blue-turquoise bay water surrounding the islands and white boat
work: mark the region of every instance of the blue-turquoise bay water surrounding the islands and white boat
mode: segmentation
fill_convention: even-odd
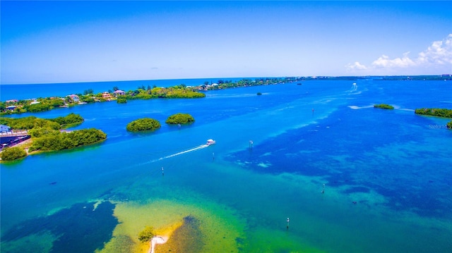
[[[356,82],[355,91],[351,81],[319,80],[32,114],[79,113],[85,122],[74,129],[99,128],[107,140],[1,165],[1,251],[26,252],[24,242],[40,245],[34,252],[102,249],[119,224],[112,209],[126,203],[167,213],[162,223],[186,208],[201,227],[234,232],[204,229],[200,252],[212,252],[209,242],[235,245],[227,252],[450,252],[450,119],[414,109],[452,109],[451,82]],[[380,103],[396,109],[372,107]],[[164,123],[178,112],[196,122]],[[162,128],[126,131],[143,117]],[[210,138],[217,143],[201,147]],[[157,226],[138,213],[121,222]],[[64,249],[68,235],[93,240]]]

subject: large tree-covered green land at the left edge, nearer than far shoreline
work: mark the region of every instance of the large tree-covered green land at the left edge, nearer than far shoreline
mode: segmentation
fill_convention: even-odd
[[[25,118],[0,118],[1,125],[7,125],[12,130],[23,132],[31,142],[20,147],[4,147],[0,158],[2,161],[11,161],[27,156],[31,152],[58,151],[73,149],[83,145],[94,144],[107,139],[102,130],[95,128],[68,131],[73,125],[83,123],[83,118],[75,113],[65,117],[44,119],[35,116]]]

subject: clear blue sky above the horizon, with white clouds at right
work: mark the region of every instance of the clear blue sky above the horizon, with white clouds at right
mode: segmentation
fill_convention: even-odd
[[[1,84],[452,73],[452,1],[1,1]]]

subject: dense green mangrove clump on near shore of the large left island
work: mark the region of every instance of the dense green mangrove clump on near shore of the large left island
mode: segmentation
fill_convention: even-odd
[[[72,149],[105,139],[107,139],[105,132],[95,128],[74,130],[73,132],[49,131],[40,137],[35,137],[29,150],[32,152]]]

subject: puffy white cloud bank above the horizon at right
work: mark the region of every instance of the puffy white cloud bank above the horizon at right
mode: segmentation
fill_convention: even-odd
[[[346,67],[349,72],[357,72],[359,70],[394,70],[400,68],[432,68],[435,66],[446,66],[452,70],[452,34],[448,35],[446,39],[432,42],[432,45],[426,50],[420,52],[417,58],[410,58],[406,52],[402,57],[389,58],[389,56],[382,55],[371,63],[370,66],[365,66],[359,62],[349,63]]]

